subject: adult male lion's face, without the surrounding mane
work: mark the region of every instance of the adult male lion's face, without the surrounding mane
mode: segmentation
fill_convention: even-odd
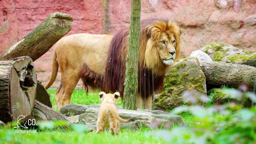
[[[174,64],[176,56],[176,40],[173,34],[167,35],[165,32],[160,33],[160,37],[156,42],[155,49],[157,50],[161,61],[166,65]]]

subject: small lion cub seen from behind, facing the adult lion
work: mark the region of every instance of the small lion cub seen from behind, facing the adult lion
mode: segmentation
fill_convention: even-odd
[[[101,91],[99,93],[101,107],[98,114],[96,134],[104,131],[105,127],[109,127],[110,132],[112,132],[114,135],[119,134],[119,122],[127,123],[134,121],[132,118],[125,120],[119,117],[117,108],[115,106],[119,100],[119,97],[119,92],[115,92],[114,94],[106,94],[105,92]]]

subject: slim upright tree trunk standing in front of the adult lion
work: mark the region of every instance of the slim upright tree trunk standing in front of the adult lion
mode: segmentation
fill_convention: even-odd
[[[138,91],[138,65],[140,42],[141,0],[131,1],[131,23],[129,49],[126,60],[126,71],[123,92],[123,108],[136,110]]]

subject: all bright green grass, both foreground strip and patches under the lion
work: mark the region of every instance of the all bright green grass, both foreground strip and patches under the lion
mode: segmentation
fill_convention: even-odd
[[[55,102],[56,90],[47,90],[50,93],[50,100],[53,109],[58,111]],[[100,105],[98,98],[99,91],[90,92],[88,96],[84,90],[74,90],[71,103],[85,105]],[[117,106],[122,106],[121,99]],[[121,129],[120,135],[111,135],[108,131],[96,135],[95,131],[90,133],[78,132],[69,128],[63,130],[37,130],[37,133],[16,133],[13,128],[16,123],[0,128],[0,144],[165,144],[166,142],[154,136],[148,136],[151,130],[142,128],[141,130]]]

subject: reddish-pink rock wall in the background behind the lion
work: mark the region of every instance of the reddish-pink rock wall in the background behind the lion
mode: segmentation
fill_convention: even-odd
[[[141,2],[141,19],[169,18],[181,27],[183,57],[215,41],[256,51],[255,0]],[[108,4],[107,11],[105,4]],[[0,53],[26,36],[53,12],[72,15],[73,27],[67,35],[81,32],[101,34],[107,25],[109,33],[128,26],[130,8],[130,0],[0,0]],[[109,23],[105,23],[105,18],[109,19]],[[50,76],[52,50],[34,62],[38,80],[43,84]]]

